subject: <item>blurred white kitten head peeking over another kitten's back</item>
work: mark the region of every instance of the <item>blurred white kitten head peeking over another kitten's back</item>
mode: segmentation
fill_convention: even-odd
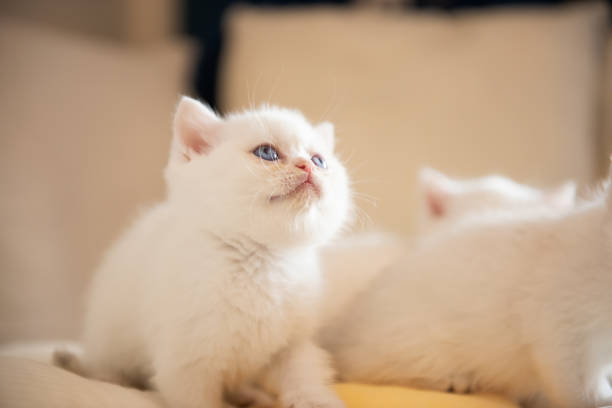
[[[486,210],[520,210],[547,206],[569,209],[576,200],[576,184],[567,182],[552,190],[538,190],[509,178],[492,175],[455,180],[434,169],[419,173],[425,203],[425,222],[455,220]]]

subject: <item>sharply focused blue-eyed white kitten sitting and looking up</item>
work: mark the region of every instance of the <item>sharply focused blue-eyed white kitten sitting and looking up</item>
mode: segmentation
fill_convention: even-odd
[[[93,280],[85,373],[150,378],[173,408],[221,407],[224,394],[244,403],[262,373],[284,407],[343,406],[311,340],[316,249],[351,206],[333,139],[329,123],[313,127],[295,111],[221,118],[183,97],[167,199],[122,235]]]

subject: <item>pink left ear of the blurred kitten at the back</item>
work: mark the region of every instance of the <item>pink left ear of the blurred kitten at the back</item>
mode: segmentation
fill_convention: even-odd
[[[431,218],[444,217],[456,190],[456,182],[437,170],[425,167],[419,171],[419,185],[428,215]]]

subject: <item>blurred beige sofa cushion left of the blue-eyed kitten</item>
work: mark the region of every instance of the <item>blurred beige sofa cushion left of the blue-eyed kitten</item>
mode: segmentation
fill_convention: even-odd
[[[163,195],[189,55],[0,19],[0,343],[77,335],[102,252]]]

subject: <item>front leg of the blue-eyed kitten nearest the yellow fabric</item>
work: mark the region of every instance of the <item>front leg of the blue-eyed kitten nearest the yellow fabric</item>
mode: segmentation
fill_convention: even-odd
[[[308,340],[281,353],[265,382],[276,388],[283,408],[344,408],[330,388],[333,376],[327,353]]]

